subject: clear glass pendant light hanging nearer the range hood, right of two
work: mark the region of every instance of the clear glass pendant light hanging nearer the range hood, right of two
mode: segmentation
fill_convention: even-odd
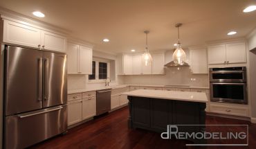
[[[180,35],[179,35],[179,27],[181,27],[181,25],[182,24],[175,25],[175,27],[178,28],[178,44],[177,44],[176,50],[174,51],[174,53],[172,55],[172,59],[175,64],[183,65],[186,60],[186,54],[185,54],[185,51],[183,51],[183,49],[181,49],[181,42],[180,42]]]

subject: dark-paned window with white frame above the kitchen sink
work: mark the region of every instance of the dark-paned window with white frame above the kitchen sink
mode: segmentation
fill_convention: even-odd
[[[93,60],[92,74],[89,75],[89,82],[102,82],[109,78],[109,62],[100,62],[101,60]],[[102,60],[103,61],[103,60]]]

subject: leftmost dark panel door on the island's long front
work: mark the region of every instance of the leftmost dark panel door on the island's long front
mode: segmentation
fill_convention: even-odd
[[[150,128],[150,99],[132,97],[131,109],[133,128]]]

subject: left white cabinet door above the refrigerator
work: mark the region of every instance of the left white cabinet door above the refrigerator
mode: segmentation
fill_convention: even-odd
[[[3,21],[3,42],[38,48],[41,31],[13,21]]]

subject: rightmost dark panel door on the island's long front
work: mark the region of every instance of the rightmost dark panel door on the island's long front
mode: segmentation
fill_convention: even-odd
[[[204,116],[200,105],[201,103],[173,101],[173,123],[178,125],[179,132],[201,132],[199,125],[204,125],[205,122],[201,121]]]

